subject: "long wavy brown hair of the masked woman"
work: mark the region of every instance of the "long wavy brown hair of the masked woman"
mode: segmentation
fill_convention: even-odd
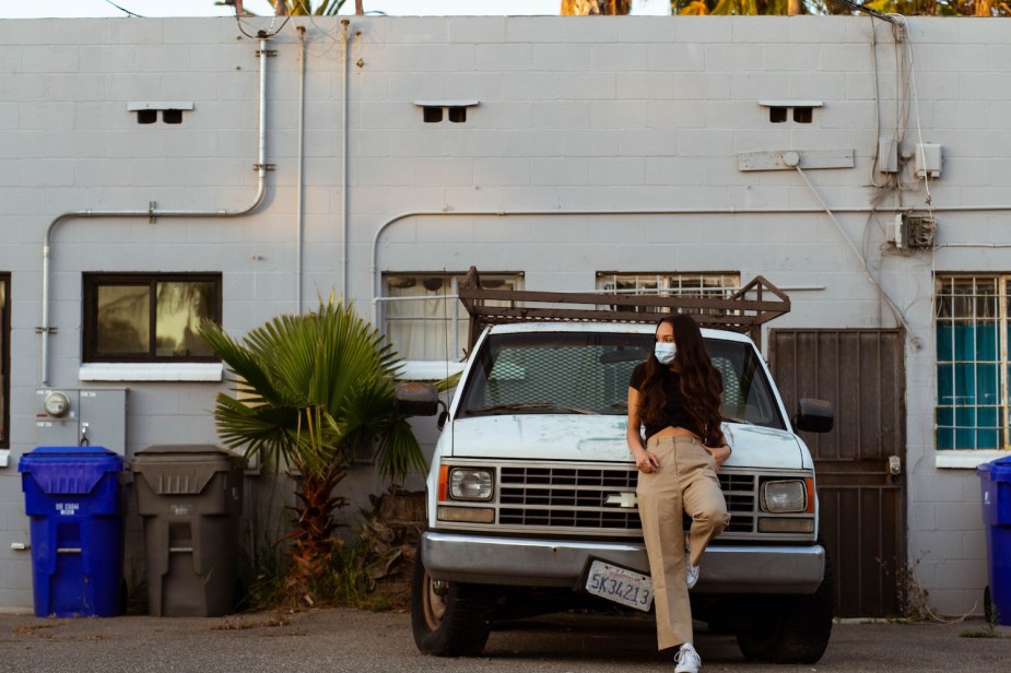
[[[706,446],[722,446],[725,439],[720,427],[722,414],[719,400],[722,390],[719,373],[713,366],[702,340],[702,331],[691,316],[683,314],[665,316],[657,322],[657,329],[665,322],[674,330],[678,343],[674,363],[680,367],[681,392],[689,415]],[[663,395],[662,374],[667,367],[654,354],[646,358],[646,378],[639,389],[639,417],[649,425],[660,425],[665,420],[663,406],[667,400]]]

